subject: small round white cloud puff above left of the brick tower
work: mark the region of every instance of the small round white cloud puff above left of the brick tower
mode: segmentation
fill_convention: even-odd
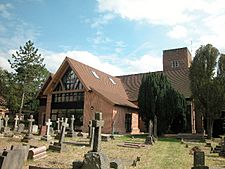
[[[168,32],[168,36],[174,39],[186,38],[187,35],[187,29],[181,25],[176,25],[170,32]]]

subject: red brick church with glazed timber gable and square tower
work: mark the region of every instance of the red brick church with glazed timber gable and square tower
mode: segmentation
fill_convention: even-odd
[[[172,87],[188,101],[189,132],[196,132],[192,105],[189,67],[192,57],[187,48],[163,51],[163,73]],[[131,133],[144,131],[138,116],[138,92],[147,73],[111,76],[98,69],[66,57],[57,72],[46,80],[39,92],[39,125],[51,119],[75,116],[75,130],[88,131],[89,120],[96,111],[102,112],[105,121],[103,133]]]

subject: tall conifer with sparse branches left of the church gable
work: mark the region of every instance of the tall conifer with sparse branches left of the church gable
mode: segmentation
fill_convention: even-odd
[[[43,60],[44,58],[30,40],[15,54],[12,54],[12,60],[8,60],[11,68],[15,71],[16,86],[14,87],[17,88],[21,98],[19,116],[21,116],[24,105],[35,99],[37,91],[48,75]]]

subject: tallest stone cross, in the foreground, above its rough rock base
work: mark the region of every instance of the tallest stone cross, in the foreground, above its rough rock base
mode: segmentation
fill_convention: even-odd
[[[104,125],[104,120],[102,120],[102,113],[95,113],[95,120],[92,120],[92,126],[94,127],[94,140],[93,140],[93,150],[92,152],[101,151],[101,129]]]

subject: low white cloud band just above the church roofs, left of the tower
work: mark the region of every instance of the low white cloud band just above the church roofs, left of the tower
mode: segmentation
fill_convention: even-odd
[[[46,67],[53,73],[57,71],[66,56],[114,76],[162,70],[162,58],[154,57],[150,54],[132,60],[120,58],[120,62],[123,64],[115,64],[101,59],[110,58],[110,56],[97,56],[88,51],[55,53],[41,50],[41,53],[45,58]]]

